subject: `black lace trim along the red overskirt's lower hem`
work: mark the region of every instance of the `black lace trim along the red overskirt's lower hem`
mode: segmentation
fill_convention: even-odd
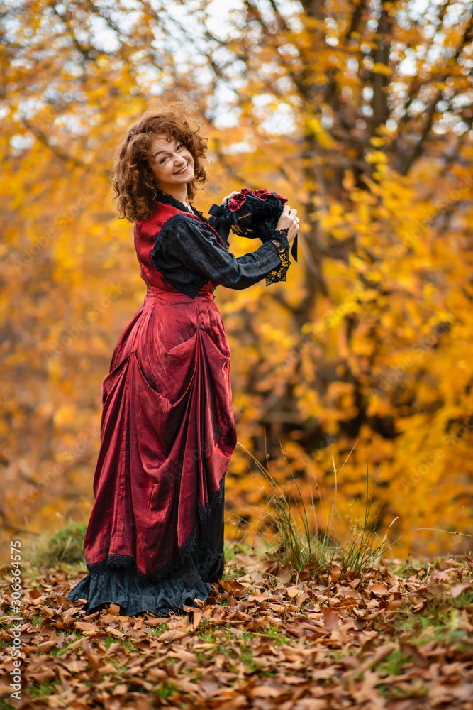
[[[179,551],[177,552],[176,557],[174,557],[173,559],[169,559],[169,562],[166,562],[166,564],[162,564],[162,566],[156,569],[155,572],[152,572],[152,574],[143,574],[143,572],[138,572],[138,569],[136,567],[136,560],[134,557],[130,557],[130,555],[108,555],[107,559],[102,559],[100,562],[91,562],[91,564],[87,564],[87,569],[89,570],[89,572],[111,573],[116,572],[116,567],[123,567],[123,569],[131,569],[132,572],[136,574],[136,577],[138,577],[138,579],[143,582],[160,581],[161,579],[164,579],[169,574],[174,572],[175,569],[181,567],[184,562],[184,559],[190,557],[190,555],[194,551],[194,547],[196,546],[197,530],[199,528],[199,525],[203,525],[205,523],[206,518],[208,518],[208,515],[210,515],[211,513],[211,510],[215,508],[218,503],[221,502],[224,490],[225,474],[223,474],[222,476],[218,491],[216,491],[215,493],[211,493],[211,496],[208,499],[208,503],[206,503],[206,506],[202,506],[200,501],[197,501],[199,521],[196,523],[196,525],[194,525],[194,528],[191,530],[189,537],[187,537],[187,540],[184,540],[184,543],[181,545],[181,547],[179,547]]]

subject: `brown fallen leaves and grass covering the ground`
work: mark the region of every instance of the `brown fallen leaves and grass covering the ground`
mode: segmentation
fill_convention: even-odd
[[[13,623],[1,583],[0,706],[122,710],[473,709],[472,561],[382,564],[318,581],[236,555],[184,613],[88,613],[85,572],[23,577],[21,701],[9,704]],[[240,574],[243,572],[244,574]],[[34,586],[33,586],[34,585]]]

